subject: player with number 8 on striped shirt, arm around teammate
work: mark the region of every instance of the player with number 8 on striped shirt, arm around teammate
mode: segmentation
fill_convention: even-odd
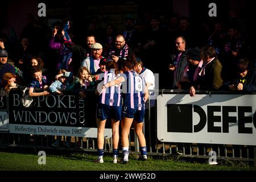
[[[102,86],[106,89],[109,86],[122,83],[123,109],[122,109],[122,152],[123,163],[129,162],[129,133],[134,122],[135,133],[139,139],[140,160],[147,159],[146,140],[143,134],[144,103],[149,97],[144,78],[134,71],[137,60],[135,55],[128,56],[122,63],[122,75],[117,79]]]

